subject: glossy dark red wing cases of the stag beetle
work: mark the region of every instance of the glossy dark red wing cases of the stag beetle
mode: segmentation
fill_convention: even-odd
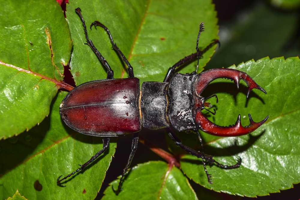
[[[86,82],[60,105],[64,122],[86,135],[118,136],[141,130],[140,81],[137,78]]]

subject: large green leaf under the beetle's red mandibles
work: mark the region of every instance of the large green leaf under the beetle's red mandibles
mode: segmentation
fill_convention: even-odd
[[[242,125],[249,124],[247,114],[254,121],[268,120],[250,135],[240,137],[215,137],[202,134],[208,144],[204,149],[221,164],[233,165],[241,157],[242,164],[237,169],[220,169],[213,165],[207,170],[213,176],[213,184],[207,182],[201,160],[191,155],[182,157],[182,171],[196,183],[217,192],[239,196],[265,196],[293,187],[300,182],[300,139],[299,104],[300,61],[298,57],[262,58],[248,61],[230,68],[245,71],[265,89],[251,91],[246,100],[247,87],[242,86],[238,93],[229,91],[236,87],[233,83],[216,80],[211,93],[219,98],[217,114],[211,118],[216,124],[234,124],[241,114]],[[241,81],[243,82],[243,81]],[[229,92],[226,94],[221,91]],[[210,95],[210,94],[207,94]]]

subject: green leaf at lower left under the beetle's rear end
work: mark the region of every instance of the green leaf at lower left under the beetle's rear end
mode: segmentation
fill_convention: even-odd
[[[59,176],[79,168],[102,149],[102,138],[86,136],[70,130],[60,119],[59,104],[66,92],[58,93],[51,105],[51,114],[27,133],[0,141],[0,199],[12,196],[16,189],[28,199],[94,199],[104,180],[116,148],[110,148],[84,171],[62,185]],[[4,175],[3,175],[4,174]],[[36,181],[40,186],[36,187]],[[40,189],[42,188],[42,189]]]

